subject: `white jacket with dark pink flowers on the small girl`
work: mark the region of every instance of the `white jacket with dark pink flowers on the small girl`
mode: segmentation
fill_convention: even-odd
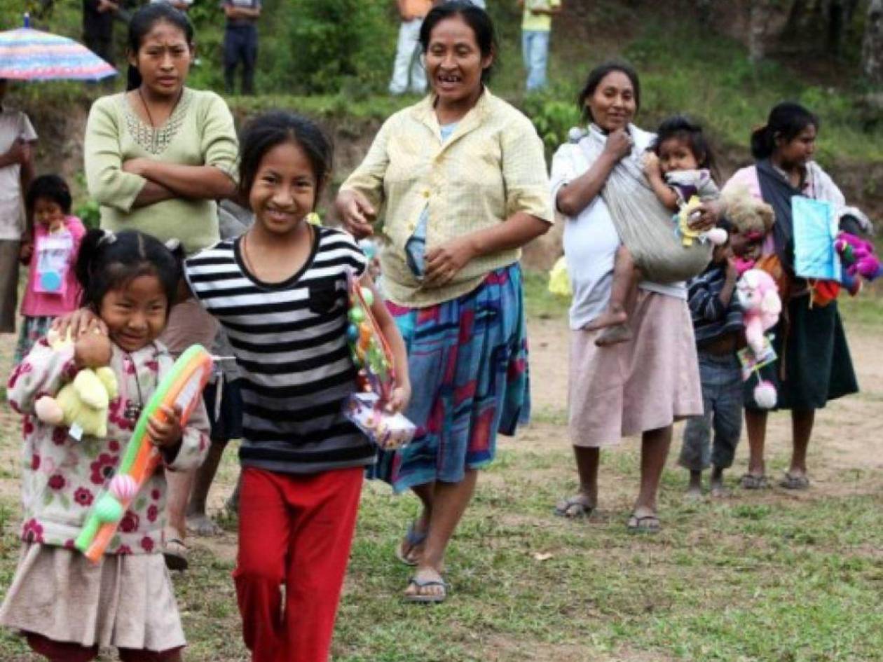
[[[135,421],[126,417],[126,410],[147,403],[174,362],[159,342],[131,354],[116,345],[112,348],[110,367],[117,375],[119,395],[110,402],[106,439],[84,436],[73,440],[66,427],[47,425],[34,416],[34,402],[42,395],[55,395],[76,375],[72,347],[52,350],[43,339],[12,372],[7,397],[12,409],[24,415],[21,538],[26,542],[73,546],[89,509],[132,436]],[[195,469],[207,450],[208,418],[200,402],[185,426],[180,446],[163,452],[163,466],[141,487],[107,553],[160,551],[165,523],[165,471]]]

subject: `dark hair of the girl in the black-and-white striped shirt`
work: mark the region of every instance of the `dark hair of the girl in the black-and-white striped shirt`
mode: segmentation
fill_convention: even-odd
[[[277,145],[292,142],[306,154],[316,179],[316,199],[331,174],[334,147],[318,124],[287,110],[273,110],[245,125],[239,137],[239,195],[247,202],[264,156]]]

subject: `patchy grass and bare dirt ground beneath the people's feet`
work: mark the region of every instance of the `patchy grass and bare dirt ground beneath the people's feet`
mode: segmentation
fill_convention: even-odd
[[[678,434],[663,476],[662,532],[625,530],[638,479],[637,445],[604,455],[600,510],[587,521],[551,515],[576,486],[566,434],[564,305],[529,275],[534,422],[502,440],[497,461],[457,531],[448,559],[452,584],[442,606],[407,605],[408,568],[393,552],[411,497],[366,485],[337,621],[336,662],[442,660],[721,660],[859,662],[883,659],[883,442],[874,412],[883,402],[879,300],[845,306],[860,395],[819,414],[805,493],[735,487],[728,499],[687,502],[675,465]],[[11,342],[2,339],[9,365]],[[770,428],[771,474],[788,458],[788,422]],[[17,421],[0,414],[0,592],[18,542]],[[215,512],[237,475],[225,456]],[[192,539],[191,570],[174,582],[193,662],[247,659],[230,579],[236,522],[217,538]],[[0,636],[0,659],[24,662],[26,648]],[[115,659],[108,653],[105,659]]]

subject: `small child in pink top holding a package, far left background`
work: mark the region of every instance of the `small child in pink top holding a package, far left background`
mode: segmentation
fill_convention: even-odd
[[[21,302],[25,320],[15,348],[16,364],[46,335],[52,320],[77,309],[80,289],[73,266],[86,234],[83,223],[71,215],[71,190],[57,175],[34,179],[25,206],[34,237],[21,247],[21,260],[30,268]]]

